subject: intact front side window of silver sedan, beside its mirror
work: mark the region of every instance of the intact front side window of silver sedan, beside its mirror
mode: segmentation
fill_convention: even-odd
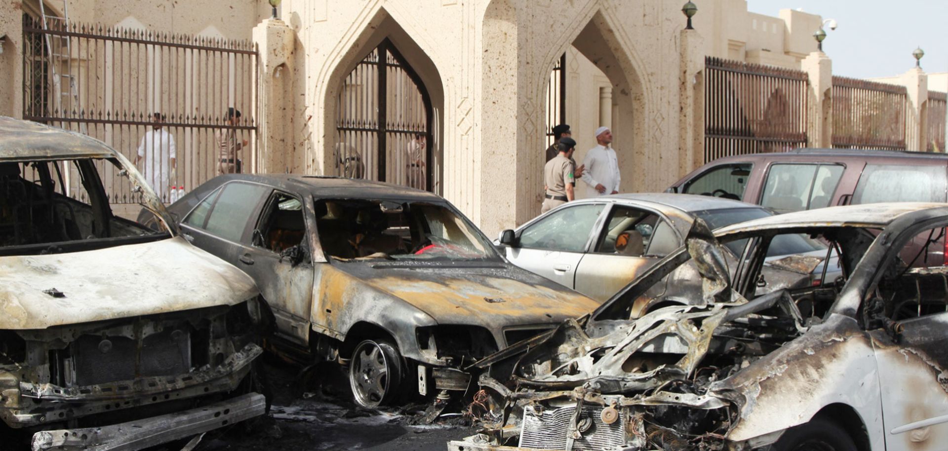
[[[560,208],[540,218],[520,233],[520,246],[534,249],[583,252],[603,204]]]

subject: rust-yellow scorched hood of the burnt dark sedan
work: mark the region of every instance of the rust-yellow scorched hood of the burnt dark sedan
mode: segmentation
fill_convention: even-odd
[[[451,267],[350,262],[337,267],[440,324],[548,324],[599,306],[593,298],[504,263]]]

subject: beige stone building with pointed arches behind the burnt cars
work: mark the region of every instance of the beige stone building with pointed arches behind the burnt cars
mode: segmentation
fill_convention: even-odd
[[[23,16],[37,16],[38,1],[0,3],[0,71],[12,81],[0,86],[0,114],[23,116],[28,96],[21,86],[29,84],[30,69],[23,66]],[[254,74],[234,69],[230,56],[229,66],[225,60],[215,72],[218,80],[200,81],[196,57],[151,57],[146,70],[181,66],[180,72],[112,75],[103,86],[118,90],[130,77],[145,94],[123,100],[123,108],[160,106],[186,117],[219,116],[246,103],[241,89],[251,89],[251,104],[239,105],[253,115],[242,131],[252,141],[249,170],[419,186],[494,234],[538,213],[542,151],[559,121],[573,126],[578,159],[595,144],[593,130],[611,126],[621,189],[661,190],[703,163],[705,57],[790,70],[807,69],[809,56],[808,70],[829,74],[829,60],[815,53],[811,37],[820,16],[790,9],[779,17],[755,14],[745,0],[698,3],[695,29],[684,29],[684,1],[667,0],[283,0],[279,19],[269,18],[263,0],[47,0],[46,8],[68,9],[75,23],[198,36],[214,45],[252,40],[259,55]],[[74,45],[69,58],[84,67],[77,70],[86,71],[86,80],[118,67],[118,57],[83,58],[82,45]],[[244,48],[227,46],[238,47]],[[182,78],[191,86],[187,100],[174,97]],[[201,83],[223,94],[205,101]],[[114,103],[118,95],[111,96]],[[88,106],[106,96],[73,97]],[[177,127],[186,133],[192,125],[182,120]],[[817,135],[829,133],[825,128],[812,126]],[[207,146],[201,143],[209,136],[195,132],[189,142]],[[128,141],[117,147],[133,152],[135,139]],[[189,183],[213,175],[200,171],[216,161],[205,153],[191,159],[200,175]]]

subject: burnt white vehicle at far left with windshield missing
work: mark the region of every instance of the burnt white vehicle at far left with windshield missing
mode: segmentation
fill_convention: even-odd
[[[111,167],[159,230],[113,214]],[[5,449],[30,436],[34,451],[141,449],[263,414],[250,390],[257,296],[179,236],[123,155],[0,117]]]

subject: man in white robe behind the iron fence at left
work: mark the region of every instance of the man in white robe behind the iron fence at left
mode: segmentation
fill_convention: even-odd
[[[152,115],[152,130],[145,132],[138,143],[138,154],[135,157],[135,166],[138,161],[145,159],[145,179],[162,202],[170,202],[168,186],[171,183],[171,171],[177,166],[177,152],[174,147],[174,136],[163,129],[165,116],[161,113]],[[170,167],[170,169],[169,169]]]

